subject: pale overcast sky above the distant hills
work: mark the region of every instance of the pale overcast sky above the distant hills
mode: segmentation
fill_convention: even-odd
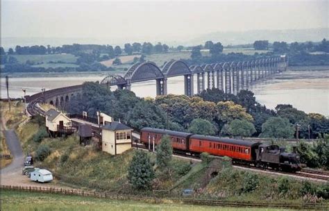
[[[1,1],[1,37],[182,40],[328,27],[329,1]]]

